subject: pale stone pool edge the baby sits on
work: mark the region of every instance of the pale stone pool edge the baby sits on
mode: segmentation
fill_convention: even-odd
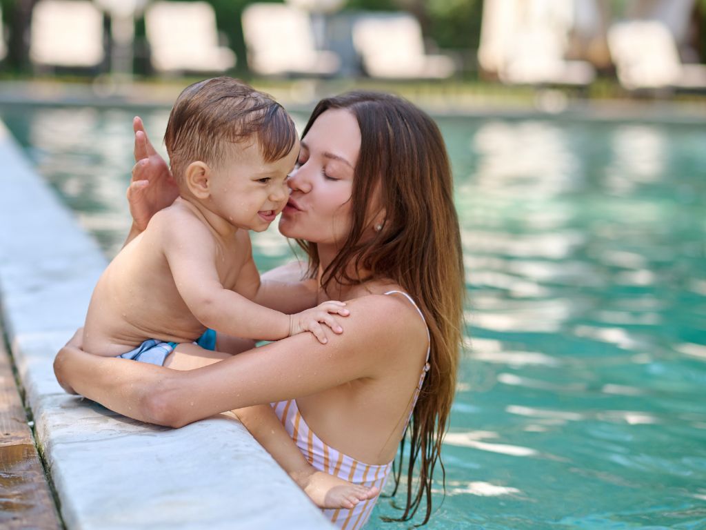
[[[0,161],[4,328],[66,527],[331,528],[237,420],[173,430],[64,393],[54,354],[83,324],[107,262],[2,122]]]

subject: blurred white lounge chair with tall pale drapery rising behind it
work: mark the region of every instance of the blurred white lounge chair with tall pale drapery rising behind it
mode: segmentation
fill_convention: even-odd
[[[573,2],[568,0],[485,0],[481,69],[503,83],[591,83],[592,64],[566,59],[573,23]]]

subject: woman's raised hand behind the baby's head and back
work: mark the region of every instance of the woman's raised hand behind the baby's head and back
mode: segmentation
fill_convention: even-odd
[[[155,213],[166,208],[179,196],[179,187],[147,137],[140,117],[133,119],[135,131],[135,165],[128,187],[128,203],[134,227],[145,230]]]

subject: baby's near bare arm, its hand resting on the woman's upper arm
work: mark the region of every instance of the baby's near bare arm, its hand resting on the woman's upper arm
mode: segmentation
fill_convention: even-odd
[[[288,315],[251,302],[223,287],[218,277],[216,243],[198,218],[183,211],[155,216],[155,237],[162,245],[179,295],[201,324],[216,331],[258,340],[277,340],[311,331],[327,341],[321,322],[342,332],[332,314],[348,314],[341,302],[324,302],[305,312]]]

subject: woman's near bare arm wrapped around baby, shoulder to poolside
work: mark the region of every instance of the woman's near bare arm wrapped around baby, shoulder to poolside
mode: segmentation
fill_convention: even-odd
[[[419,323],[388,296],[351,300],[345,334],[321,344],[299,334],[217,365],[188,372],[105,358],[72,344],[59,351],[56,377],[64,387],[113,411],[157,425],[181,427],[213,414],[306,396],[364,377],[397,362],[401,345],[425,340]],[[411,337],[411,338],[410,338]],[[381,359],[385,363],[381,363]],[[401,361],[400,361],[401,362]]]

